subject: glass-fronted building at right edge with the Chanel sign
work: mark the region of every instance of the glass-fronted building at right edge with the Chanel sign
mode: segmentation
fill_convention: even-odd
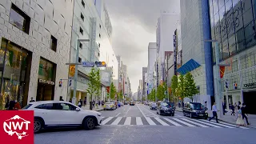
[[[245,102],[250,114],[256,114],[256,1],[209,0],[209,6],[211,38],[218,40],[219,61],[230,64],[222,78],[223,101],[226,106]]]

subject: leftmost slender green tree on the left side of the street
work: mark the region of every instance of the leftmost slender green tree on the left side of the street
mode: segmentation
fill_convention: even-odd
[[[88,83],[88,89],[86,90],[86,92],[89,94],[90,96],[90,102],[93,100],[93,95],[94,95],[94,92],[96,90],[96,71],[94,68],[92,68],[90,70],[90,73],[89,73],[89,83]]]

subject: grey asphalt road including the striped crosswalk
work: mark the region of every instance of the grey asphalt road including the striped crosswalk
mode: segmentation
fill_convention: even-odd
[[[160,116],[149,106],[123,106],[102,111],[102,126],[95,130],[47,130],[35,134],[35,144],[256,144],[256,130],[175,116]],[[105,122],[104,122],[105,121]]]

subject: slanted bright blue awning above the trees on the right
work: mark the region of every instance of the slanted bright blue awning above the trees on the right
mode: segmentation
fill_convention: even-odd
[[[184,65],[182,65],[177,71],[179,74],[186,74],[196,68],[201,66],[198,62],[195,62],[194,59],[190,59],[188,62],[186,62]]]

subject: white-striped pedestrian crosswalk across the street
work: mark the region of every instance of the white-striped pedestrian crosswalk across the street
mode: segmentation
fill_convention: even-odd
[[[164,117],[104,117],[102,125],[111,126],[191,126],[191,127],[215,127],[215,128],[241,128],[226,122],[208,122],[205,119],[192,118],[164,118]]]

